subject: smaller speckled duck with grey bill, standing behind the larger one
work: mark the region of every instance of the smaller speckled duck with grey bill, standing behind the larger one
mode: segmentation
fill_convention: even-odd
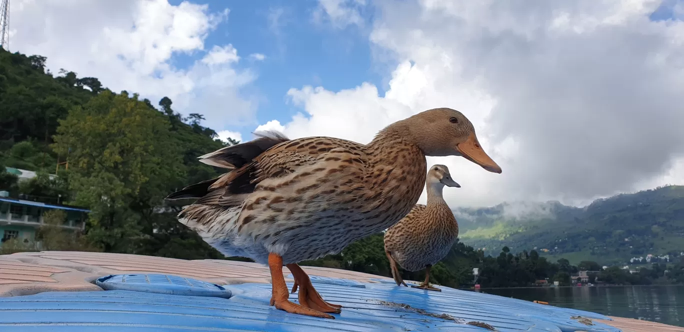
[[[449,168],[444,165],[430,168],[425,186],[428,205],[416,204],[402,220],[390,227],[384,234],[384,248],[397,285],[406,286],[398,263],[409,271],[425,268],[425,281],[412,288],[441,292],[430,285],[430,269],[449,253],[458,237],[458,222],[444,201],[442,190],[444,186],[461,186],[451,179]]]

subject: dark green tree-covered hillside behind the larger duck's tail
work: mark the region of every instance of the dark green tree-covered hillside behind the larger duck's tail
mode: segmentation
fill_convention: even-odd
[[[61,70],[46,58],[0,49],[0,164],[38,171],[28,183],[0,168],[10,195],[92,209],[88,239],[104,251],[218,258],[176,221],[154,213],[163,197],[220,173],[196,157],[220,149],[200,114],[183,118],[163,98],[159,109],[134,93],[111,92],[94,77]],[[68,160],[55,173],[57,161]]]

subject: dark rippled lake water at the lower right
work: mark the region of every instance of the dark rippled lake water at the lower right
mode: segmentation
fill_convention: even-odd
[[[500,288],[484,293],[684,327],[684,286]]]

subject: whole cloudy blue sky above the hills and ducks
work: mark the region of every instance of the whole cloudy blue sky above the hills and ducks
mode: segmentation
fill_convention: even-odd
[[[428,157],[452,207],[684,184],[684,0],[12,0],[9,47],[241,141],[459,110],[503,173]]]

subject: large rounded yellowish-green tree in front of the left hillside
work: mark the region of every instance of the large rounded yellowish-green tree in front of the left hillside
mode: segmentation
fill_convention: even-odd
[[[55,153],[69,158],[73,203],[92,210],[88,235],[105,251],[134,252],[141,218],[182,175],[168,119],[107,90],[70,110],[54,140]]]

